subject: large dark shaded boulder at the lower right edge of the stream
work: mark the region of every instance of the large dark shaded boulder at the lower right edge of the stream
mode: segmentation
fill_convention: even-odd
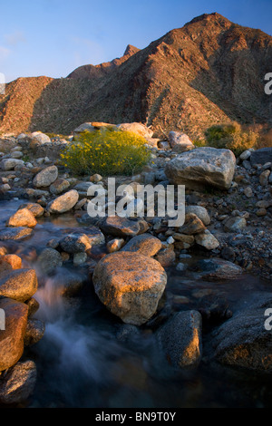
[[[271,373],[271,314],[266,311],[271,308],[272,294],[254,295],[254,300],[214,332],[214,356],[220,363]]]

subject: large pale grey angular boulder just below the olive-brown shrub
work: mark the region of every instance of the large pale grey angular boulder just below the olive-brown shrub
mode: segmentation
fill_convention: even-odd
[[[212,186],[229,189],[236,168],[236,159],[231,150],[197,148],[170,160],[165,174],[170,182],[185,185],[189,189]]]

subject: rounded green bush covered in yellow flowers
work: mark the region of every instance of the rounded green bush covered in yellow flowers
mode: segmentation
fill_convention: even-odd
[[[131,131],[84,131],[63,150],[63,165],[77,175],[132,175],[150,160],[146,140]]]

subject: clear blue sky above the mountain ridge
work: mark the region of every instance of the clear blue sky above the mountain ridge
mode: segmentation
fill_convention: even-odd
[[[272,34],[272,0],[0,0],[0,73],[66,77],[211,12]]]

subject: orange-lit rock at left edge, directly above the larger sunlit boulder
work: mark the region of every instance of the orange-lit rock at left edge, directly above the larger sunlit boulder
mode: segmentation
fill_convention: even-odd
[[[15,269],[0,279],[0,295],[18,302],[25,302],[37,291],[38,282],[34,269]]]

